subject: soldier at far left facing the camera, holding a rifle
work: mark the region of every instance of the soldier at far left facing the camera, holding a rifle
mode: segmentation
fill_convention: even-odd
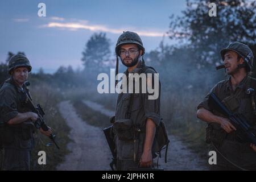
[[[3,144],[4,170],[30,170],[30,152],[34,147],[33,124],[38,119],[36,113],[29,111],[24,105],[24,92],[28,93],[24,82],[31,71],[27,57],[18,54],[9,60],[11,75],[0,89],[0,122]],[[52,131],[40,132],[46,136]]]

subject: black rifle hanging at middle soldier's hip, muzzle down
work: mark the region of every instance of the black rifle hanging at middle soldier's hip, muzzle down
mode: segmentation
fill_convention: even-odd
[[[114,171],[113,166],[115,165],[115,168],[117,167],[117,152],[115,152],[115,143],[114,143],[114,138],[112,133],[112,127],[113,125],[106,127],[105,129],[103,129],[103,132],[105,134],[110,151],[112,153],[112,162],[109,164],[109,166],[111,167],[112,171]]]

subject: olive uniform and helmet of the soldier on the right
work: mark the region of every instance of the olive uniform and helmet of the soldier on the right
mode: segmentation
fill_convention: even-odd
[[[225,52],[227,51],[235,51],[244,59],[246,57],[247,59],[245,59],[245,64],[243,65],[243,67],[245,67],[249,71],[251,70],[253,55],[249,47],[247,47],[245,44],[241,44],[238,42],[230,43],[227,48],[222,49],[221,51],[221,56],[223,60]],[[204,109],[211,111],[215,115],[225,117],[224,115],[221,115],[209,106],[209,94],[214,93],[222,101],[222,104],[228,107],[228,109],[234,114],[243,114],[249,122],[250,126],[253,127],[254,133],[256,133],[256,115],[253,109],[253,104],[251,102],[251,95],[246,94],[247,88],[253,88],[254,90],[256,90],[256,80],[254,78],[246,76],[245,78],[243,78],[240,84],[238,84],[236,89],[233,90],[230,79],[231,78],[228,78],[226,80],[218,82],[218,84],[215,85],[204,98],[204,101],[201,102],[199,106],[197,106],[197,109],[203,107]],[[207,143],[211,143],[209,151],[216,151],[215,147],[217,147],[218,151],[220,151],[226,159],[230,160],[230,162],[240,167],[238,168],[234,166],[225,158],[223,158],[218,151],[216,151],[217,165],[210,165],[210,169],[256,169],[256,152],[253,151],[253,149],[250,147],[250,143],[238,139],[236,131],[226,133],[226,131],[221,128],[220,124],[208,123],[207,136],[205,139]],[[215,147],[213,146],[213,144]]]

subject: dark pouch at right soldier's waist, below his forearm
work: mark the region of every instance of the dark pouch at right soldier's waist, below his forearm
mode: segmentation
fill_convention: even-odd
[[[226,138],[226,131],[221,128],[218,123],[208,123],[206,128],[205,142],[210,144],[214,143],[221,146],[223,140]]]

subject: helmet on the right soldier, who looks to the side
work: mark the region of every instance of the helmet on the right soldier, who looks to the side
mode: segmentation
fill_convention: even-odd
[[[240,43],[240,42],[232,42],[229,44],[228,47],[221,50],[221,58],[224,61],[224,55],[228,51],[234,51],[240,55],[243,60],[245,60],[247,68],[249,68],[249,71],[253,68],[253,52],[247,46],[246,44]]]

